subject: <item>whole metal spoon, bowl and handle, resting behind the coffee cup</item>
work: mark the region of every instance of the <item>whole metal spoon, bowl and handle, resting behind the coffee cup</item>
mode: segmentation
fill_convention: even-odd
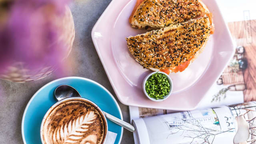
[[[58,86],[54,91],[54,96],[58,101],[60,101],[64,98],[81,97],[79,92],[75,88],[73,88],[72,86],[69,86],[69,85]],[[130,130],[131,132],[135,131],[134,126],[132,126],[131,124],[128,124],[127,122],[120,120],[119,118],[116,118],[115,116],[112,116],[111,114],[108,114],[107,112],[103,111],[103,113],[106,116],[106,118],[108,118],[112,122],[118,124],[119,126],[122,126],[122,127],[126,128],[127,130]]]

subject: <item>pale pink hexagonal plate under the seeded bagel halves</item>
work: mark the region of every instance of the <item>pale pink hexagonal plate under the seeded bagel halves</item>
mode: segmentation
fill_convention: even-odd
[[[163,102],[153,102],[142,91],[142,81],[151,71],[140,66],[126,46],[126,37],[146,32],[128,23],[136,0],[112,0],[95,24],[92,40],[120,102],[169,110],[196,108],[234,54],[234,44],[217,3],[215,0],[203,2],[214,15],[215,33],[202,54],[184,72],[170,74],[172,95]]]

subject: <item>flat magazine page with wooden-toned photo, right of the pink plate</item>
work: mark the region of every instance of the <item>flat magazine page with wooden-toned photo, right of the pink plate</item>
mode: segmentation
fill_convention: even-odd
[[[256,1],[217,2],[237,47],[230,64],[198,108],[238,104],[256,98],[256,9],[252,6]]]

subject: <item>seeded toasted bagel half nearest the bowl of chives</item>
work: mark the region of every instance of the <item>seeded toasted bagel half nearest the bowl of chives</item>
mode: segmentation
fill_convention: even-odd
[[[210,28],[206,16],[130,36],[126,41],[135,60],[145,68],[182,72],[203,51]]]

